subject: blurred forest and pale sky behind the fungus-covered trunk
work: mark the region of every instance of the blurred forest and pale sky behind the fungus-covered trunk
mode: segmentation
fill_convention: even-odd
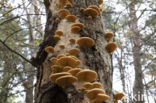
[[[131,103],[133,87],[142,81],[146,103],[156,103],[156,1],[104,0],[100,8],[105,31],[118,44],[114,91],[126,94],[122,103]],[[33,103],[37,69],[29,59],[36,56],[45,23],[42,0],[0,0],[0,103]]]

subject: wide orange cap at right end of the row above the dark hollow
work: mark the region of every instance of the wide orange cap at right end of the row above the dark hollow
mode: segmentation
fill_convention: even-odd
[[[79,81],[92,82],[96,80],[97,73],[89,69],[84,69],[77,73],[76,77],[79,79]]]

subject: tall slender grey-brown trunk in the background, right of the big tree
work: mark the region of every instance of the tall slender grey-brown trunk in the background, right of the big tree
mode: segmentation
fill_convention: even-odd
[[[132,32],[132,51],[133,51],[133,63],[135,69],[135,82],[133,87],[133,94],[136,98],[139,98],[137,95],[144,94],[144,86],[143,86],[143,73],[141,67],[141,43],[140,43],[140,33],[138,30],[138,20],[136,17],[135,11],[135,3],[136,0],[131,0],[129,5],[130,7],[130,29]],[[144,103],[144,101],[139,102]]]

